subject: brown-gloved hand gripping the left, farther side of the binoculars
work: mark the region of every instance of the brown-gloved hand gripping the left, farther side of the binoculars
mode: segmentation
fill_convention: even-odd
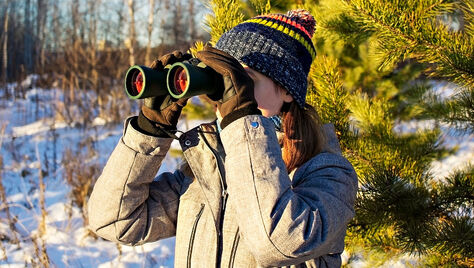
[[[150,68],[162,71],[168,64],[190,58],[192,58],[191,54],[183,54],[176,50],[155,60]],[[169,137],[166,132],[175,132],[179,115],[187,101],[188,98],[175,100],[170,95],[145,98],[138,115],[138,127],[147,134]]]

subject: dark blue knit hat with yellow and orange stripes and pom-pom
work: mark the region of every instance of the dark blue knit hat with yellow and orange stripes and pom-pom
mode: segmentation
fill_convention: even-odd
[[[316,22],[306,10],[251,18],[224,33],[216,48],[270,77],[303,107],[311,62],[316,57],[311,37]]]

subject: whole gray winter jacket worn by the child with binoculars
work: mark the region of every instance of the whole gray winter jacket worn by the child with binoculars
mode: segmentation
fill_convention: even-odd
[[[97,235],[128,245],[176,236],[176,267],[341,265],[357,176],[333,130],[331,150],[288,174],[271,120],[249,115],[220,133],[202,124],[179,139],[192,173],[155,178],[172,139],[134,122],[89,199]]]

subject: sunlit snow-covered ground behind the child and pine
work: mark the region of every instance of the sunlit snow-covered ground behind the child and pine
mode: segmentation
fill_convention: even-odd
[[[28,84],[28,81],[25,82]],[[42,214],[39,174],[45,183],[46,232],[42,239],[50,262],[56,267],[172,267],[174,238],[128,247],[88,236],[81,210],[71,203],[71,187],[65,180],[64,155],[70,150],[85,166],[103,167],[116,143],[122,124],[107,124],[93,116],[86,128],[58,120],[60,90],[31,89],[25,99],[0,102],[0,151],[2,183],[7,203],[0,202],[0,267],[25,267],[38,262],[32,237],[38,234]],[[133,110],[133,109],[132,109]],[[132,111],[132,114],[136,111]],[[56,119],[55,119],[56,118]],[[189,127],[199,122],[188,122]],[[410,122],[399,131],[429,127],[430,122]],[[5,133],[1,135],[2,127]],[[184,125],[181,125],[181,129]],[[444,144],[458,150],[433,163],[437,176],[474,163],[474,137],[450,134],[443,129]],[[177,144],[173,146],[177,148]],[[69,159],[70,160],[70,159]],[[160,172],[175,168],[178,160],[167,156]],[[1,200],[1,199],[0,199]],[[8,225],[7,210],[16,232]],[[19,244],[13,244],[15,236]],[[38,242],[40,241],[40,242]],[[41,239],[36,245],[41,247]],[[397,265],[395,265],[397,266]]]

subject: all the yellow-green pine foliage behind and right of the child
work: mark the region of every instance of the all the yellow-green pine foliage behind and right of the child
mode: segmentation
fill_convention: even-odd
[[[448,177],[436,177],[430,168],[453,153],[441,146],[440,125],[460,130],[459,135],[474,133],[474,2],[210,2],[214,42],[262,9],[305,8],[316,18],[318,55],[307,102],[324,123],[335,125],[343,153],[359,175],[346,264],[362,259],[374,267],[408,256],[417,266],[472,267],[474,167]],[[451,83],[455,94],[441,98],[433,91],[436,83]],[[423,120],[435,124],[400,130],[406,122]]]

